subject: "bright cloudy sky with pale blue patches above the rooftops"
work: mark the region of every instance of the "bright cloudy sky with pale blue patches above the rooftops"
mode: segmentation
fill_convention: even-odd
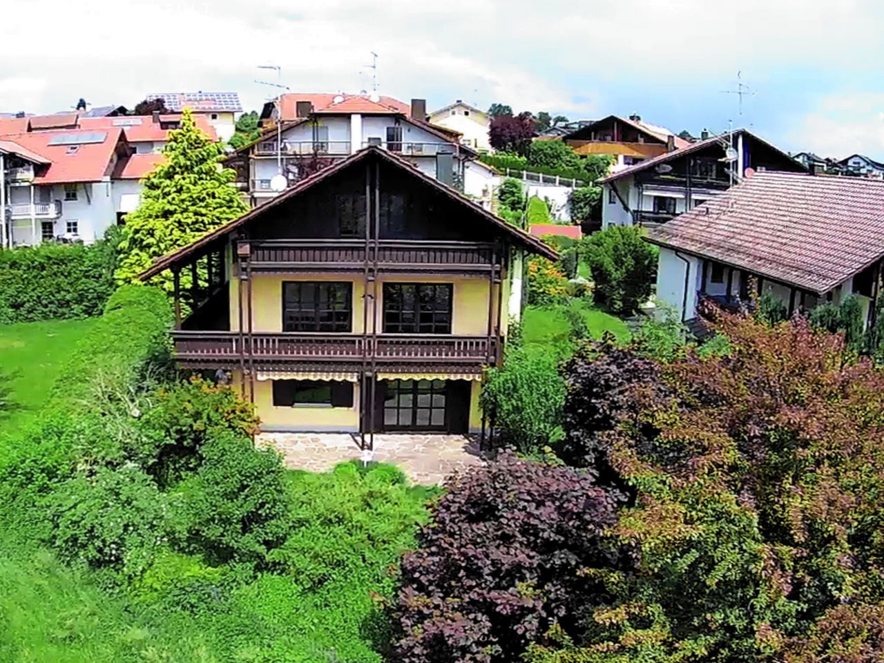
[[[781,149],[884,161],[880,0],[26,0],[0,21],[0,111],[80,97],[372,88],[429,110],[638,113],[697,135],[746,126]],[[742,114],[737,72],[748,88]],[[729,92],[728,92],[729,91]]]

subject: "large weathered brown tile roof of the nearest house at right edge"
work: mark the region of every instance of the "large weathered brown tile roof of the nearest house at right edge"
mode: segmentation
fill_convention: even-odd
[[[647,239],[826,293],[884,256],[884,181],[761,171]]]

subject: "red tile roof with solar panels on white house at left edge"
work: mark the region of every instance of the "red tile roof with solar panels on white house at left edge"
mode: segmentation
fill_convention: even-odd
[[[73,143],[51,145],[54,136],[94,137],[103,133],[101,142],[81,143],[76,152],[68,154]],[[16,133],[4,136],[10,141],[42,156],[50,162],[49,167],[34,177],[34,184],[63,184],[69,182],[97,182],[110,175],[113,156],[123,138],[123,130],[116,126],[101,132],[65,129],[61,131],[41,131]]]

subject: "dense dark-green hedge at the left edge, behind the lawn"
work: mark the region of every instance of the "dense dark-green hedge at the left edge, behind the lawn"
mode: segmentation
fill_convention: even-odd
[[[0,324],[100,315],[116,260],[113,240],[0,249]]]

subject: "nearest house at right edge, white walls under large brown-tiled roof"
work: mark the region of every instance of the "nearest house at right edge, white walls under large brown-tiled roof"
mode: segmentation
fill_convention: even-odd
[[[853,293],[875,315],[884,260],[884,182],[756,172],[648,232],[660,248],[657,297],[681,316],[773,293],[789,315]]]

